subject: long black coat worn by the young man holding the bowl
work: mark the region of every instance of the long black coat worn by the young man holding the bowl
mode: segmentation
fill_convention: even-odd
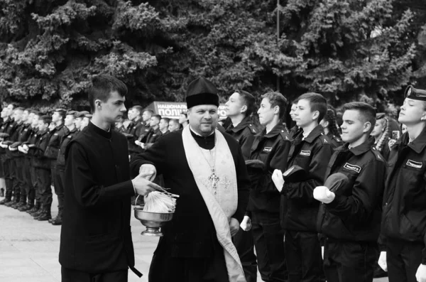
[[[89,123],[65,151],[59,262],[87,273],[133,270],[126,137]]]

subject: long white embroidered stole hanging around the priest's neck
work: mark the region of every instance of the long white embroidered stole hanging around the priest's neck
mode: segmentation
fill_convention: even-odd
[[[197,183],[197,187],[212,216],[217,239],[224,248],[229,282],[246,282],[243,267],[234,243],[232,243],[229,229],[229,219],[234,215],[238,206],[234,158],[232,158],[224,136],[218,130],[215,131],[215,134],[216,144],[214,150],[216,152],[212,154],[215,155],[213,166],[216,175],[219,177],[215,189],[213,188],[212,180],[209,180],[212,170],[208,161],[211,160],[205,150],[203,152],[203,149],[198,146],[197,141],[195,141],[190,132],[190,126],[186,126],[182,131],[183,148],[185,149],[185,156],[195,183]],[[204,156],[200,156],[200,149],[204,156],[207,156],[207,160]]]

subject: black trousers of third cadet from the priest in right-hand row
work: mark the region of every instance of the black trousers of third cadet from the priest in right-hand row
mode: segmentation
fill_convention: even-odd
[[[289,282],[324,281],[320,239],[314,232],[285,232],[285,255]]]

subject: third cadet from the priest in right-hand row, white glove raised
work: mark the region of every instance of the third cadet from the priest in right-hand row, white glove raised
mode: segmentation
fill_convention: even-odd
[[[324,184],[332,146],[324,134],[320,120],[327,112],[327,100],[317,93],[305,93],[298,98],[294,113],[301,131],[290,148],[288,168],[299,166],[305,177],[283,181],[282,171],[273,172],[273,180],[281,192],[281,224],[285,229],[285,255],[288,281],[310,282],[323,278],[320,240],[317,234],[317,212],[320,202],[314,199],[315,187]]]

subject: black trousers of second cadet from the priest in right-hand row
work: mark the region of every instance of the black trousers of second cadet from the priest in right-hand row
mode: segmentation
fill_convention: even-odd
[[[263,281],[287,281],[285,264],[284,231],[280,216],[253,212],[251,230],[258,258],[258,269]]]

